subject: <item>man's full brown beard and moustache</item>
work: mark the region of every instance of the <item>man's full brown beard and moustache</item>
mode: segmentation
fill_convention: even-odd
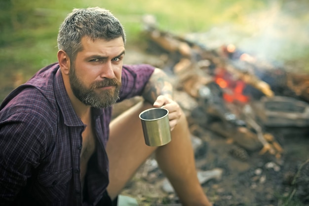
[[[72,65],[69,74],[70,84],[74,95],[79,101],[85,105],[90,105],[95,108],[107,108],[116,103],[119,99],[119,91],[121,88],[121,82],[117,79],[105,79],[102,81],[93,82],[87,88],[78,79],[75,67]],[[114,86],[114,89],[104,89],[96,92],[96,88],[104,86]]]

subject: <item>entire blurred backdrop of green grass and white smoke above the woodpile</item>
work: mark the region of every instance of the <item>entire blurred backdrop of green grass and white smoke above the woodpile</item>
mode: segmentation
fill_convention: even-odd
[[[111,10],[127,34],[127,50],[143,44],[142,17],[209,47],[232,43],[309,72],[308,0],[0,0],[0,102],[57,60],[57,33],[73,8]]]

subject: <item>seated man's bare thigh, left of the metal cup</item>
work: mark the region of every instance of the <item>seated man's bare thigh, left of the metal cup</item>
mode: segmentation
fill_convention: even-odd
[[[145,144],[139,113],[151,105],[138,103],[110,124],[106,152],[110,163],[108,193],[114,199],[136,170],[156,150]]]

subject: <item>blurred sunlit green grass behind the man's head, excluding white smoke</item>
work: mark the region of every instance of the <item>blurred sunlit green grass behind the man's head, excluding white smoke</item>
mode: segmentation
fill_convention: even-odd
[[[142,30],[141,18],[145,14],[153,14],[158,26],[176,34],[188,32],[205,32],[215,25],[227,22],[241,22],[242,16],[248,12],[263,8],[263,1],[256,0],[11,0],[11,24],[13,29],[1,34],[2,49],[17,50],[17,56],[10,58],[28,60],[35,66],[44,56],[41,54],[41,43],[49,48],[44,52],[49,62],[54,61],[58,27],[67,13],[73,8],[100,6],[110,9],[122,22],[128,38],[128,45],[139,40]],[[33,7],[35,5],[35,7]],[[7,13],[6,13],[7,14]],[[5,14],[4,14],[5,15]],[[1,45],[0,44],[0,45]],[[24,49],[25,52],[20,52]],[[27,51],[27,52],[26,52]],[[1,51],[1,62],[7,59],[5,51]],[[20,56],[25,57],[20,57]],[[38,60],[36,60],[38,59]],[[5,61],[4,61],[5,62]]]

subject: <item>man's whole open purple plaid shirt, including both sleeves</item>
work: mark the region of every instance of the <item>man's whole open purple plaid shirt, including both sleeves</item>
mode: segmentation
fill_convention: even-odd
[[[154,71],[123,66],[119,101],[141,95]],[[82,203],[79,178],[85,125],[65,90],[59,64],[41,69],[0,106],[0,205],[95,205],[109,183],[105,145],[112,108],[92,108],[97,149],[89,160]]]

